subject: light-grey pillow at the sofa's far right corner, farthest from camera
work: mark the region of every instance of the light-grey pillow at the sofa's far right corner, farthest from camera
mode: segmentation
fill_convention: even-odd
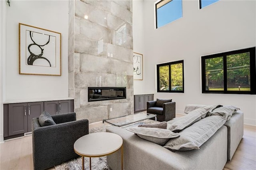
[[[214,109],[213,111],[210,111],[209,116],[217,115],[223,117],[226,121],[229,121],[230,117],[233,114],[235,114],[238,110],[239,108],[234,106],[221,106]]]

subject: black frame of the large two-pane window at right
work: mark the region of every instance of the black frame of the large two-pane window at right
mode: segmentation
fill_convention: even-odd
[[[228,91],[227,89],[227,63],[226,57],[227,55],[234,55],[239,53],[250,53],[250,91]],[[206,90],[206,65],[205,60],[215,57],[223,57],[223,81],[224,81],[224,90],[223,91],[215,91],[215,90]],[[201,56],[201,73],[202,73],[202,93],[219,93],[219,94],[256,94],[256,59],[255,59],[255,47],[250,47],[246,49],[238,49],[234,51],[228,51],[223,53],[217,53],[212,55],[204,55]]]

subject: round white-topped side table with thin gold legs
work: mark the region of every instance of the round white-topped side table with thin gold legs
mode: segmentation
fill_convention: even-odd
[[[103,138],[101,136],[103,136]],[[98,148],[98,146],[95,146],[95,143],[89,143],[89,144],[86,143],[86,141],[88,139],[93,138],[93,140],[91,140],[92,142],[105,139],[104,143],[106,144],[106,140],[107,140],[106,137],[110,137],[110,138],[112,138],[112,140],[114,139],[115,142],[118,141],[117,142],[118,145],[116,147],[112,148],[112,150],[108,150],[108,152],[104,152],[104,153],[95,153],[94,154],[94,153],[89,153],[90,151],[89,152],[82,151],[82,150],[86,150],[83,147],[83,143],[84,143],[85,147],[86,146],[90,147],[90,149],[92,149],[92,150]],[[78,144],[78,143],[80,143],[80,144]],[[86,144],[88,144],[88,145],[86,145]],[[112,145],[112,147],[113,147],[113,142],[111,142],[110,145]],[[107,145],[106,145],[106,147],[108,148]],[[92,170],[91,158],[110,155],[110,154],[118,151],[120,148],[121,148],[121,166],[122,166],[122,170],[123,170],[123,140],[122,140],[121,136],[119,136],[118,134],[114,134],[114,133],[110,133],[110,132],[90,133],[90,134],[80,137],[74,143],[74,151],[76,152],[76,154],[82,156],[82,170],[84,170],[84,157],[90,158],[90,170]]]

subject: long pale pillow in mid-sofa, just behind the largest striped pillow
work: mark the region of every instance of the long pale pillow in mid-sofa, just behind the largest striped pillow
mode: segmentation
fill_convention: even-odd
[[[168,126],[169,130],[172,130],[173,132],[178,132],[193,123],[199,121],[200,119],[204,119],[206,117],[206,114],[208,111],[214,109],[216,105],[212,106],[204,106],[200,107],[194,111],[191,111],[187,115],[180,117],[178,120],[176,120],[174,123],[172,123],[170,126]]]

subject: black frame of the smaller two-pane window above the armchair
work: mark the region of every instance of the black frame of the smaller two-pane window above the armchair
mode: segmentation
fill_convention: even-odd
[[[178,63],[182,63],[182,90],[172,90],[171,87],[171,68],[170,65],[174,65],[174,64],[178,64]],[[169,67],[169,90],[160,90],[159,89],[159,85],[160,85],[160,76],[159,76],[159,67],[162,66],[168,66]],[[184,93],[184,60],[179,60],[179,61],[173,61],[173,62],[168,62],[168,63],[162,63],[162,64],[158,64],[156,65],[156,72],[157,72],[157,92],[160,93]]]

